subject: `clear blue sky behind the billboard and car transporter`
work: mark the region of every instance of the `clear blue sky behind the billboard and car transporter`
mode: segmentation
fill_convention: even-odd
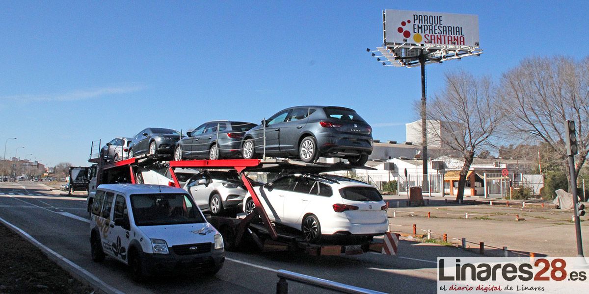
[[[14,1],[0,4],[6,157],[87,165],[90,142],[212,119],[258,122],[293,105],[356,109],[405,141],[419,69],[379,65],[382,9],[476,14],[484,54],[428,66],[502,72],[531,55],[587,55],[587,1]],[[0,146],[1,148],[1,146]],[[30,155],[32,153],[32,155]]]

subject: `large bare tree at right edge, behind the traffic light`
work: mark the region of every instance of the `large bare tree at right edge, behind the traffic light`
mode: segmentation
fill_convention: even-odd
[[[589,143],[589,56],[580,62],[564,56],[525,59],[502,76],[500,96],[508,131],[524,141],[547,143],[565,171],[564,122],[575,121],[576,181]]]

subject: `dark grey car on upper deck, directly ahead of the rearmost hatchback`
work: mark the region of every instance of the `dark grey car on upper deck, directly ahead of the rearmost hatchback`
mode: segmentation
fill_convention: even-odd
[[[251,122],[203,123],[180,140],[174,151],[174,160],[239,158],[243,136],[254,126],[256,124]]]

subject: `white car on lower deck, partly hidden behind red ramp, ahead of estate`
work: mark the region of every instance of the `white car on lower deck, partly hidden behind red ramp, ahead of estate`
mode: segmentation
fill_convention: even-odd
[[[252,185],[262,183],[252,181]],[[184,190],[193,197],[203,211],[220,215],[228,209],[241,209],[246,187],[236,171],[203,171],[188,179]]]

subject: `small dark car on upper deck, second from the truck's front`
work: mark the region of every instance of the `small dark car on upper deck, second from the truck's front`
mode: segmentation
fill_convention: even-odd
[[[137,133],[129,145],[129,157],[149,154],[172,155],[178,141],[180,132],[174,129],[147,128]]]

